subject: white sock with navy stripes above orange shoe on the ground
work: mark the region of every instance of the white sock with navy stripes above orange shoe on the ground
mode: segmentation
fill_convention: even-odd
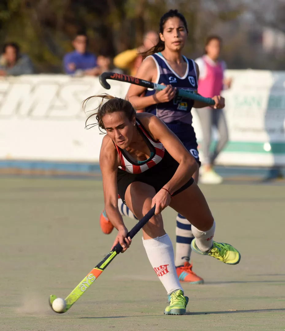
[[[177,214],[175,266],[179,267],[190,261],[191,242],[193,239],[191,224],[184,216]]]

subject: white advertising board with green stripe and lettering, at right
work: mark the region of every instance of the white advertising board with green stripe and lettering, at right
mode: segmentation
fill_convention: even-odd
[[[223,92],[229,143],[218,164],[285,165],[285,72],[228,70],[232,86]],[[193,111],[193,126],[202,141]]]

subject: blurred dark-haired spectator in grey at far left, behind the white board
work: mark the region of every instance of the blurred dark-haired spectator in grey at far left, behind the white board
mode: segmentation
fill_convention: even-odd
[[[0,76],[24,75],[34,73],[33,65],[26,54],[20,54],[20,47],[15,42],[3,46],[0,56]]]

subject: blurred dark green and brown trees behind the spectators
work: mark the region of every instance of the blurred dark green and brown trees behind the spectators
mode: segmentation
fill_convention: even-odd
[[[281,0],[270,3],[274,1],[281,6]],[[224,37],[225,26],[236,26],[225,45],[226,57],[231,54],[233,60],[233,49],[237,51],[234,40],[245,41],[237,30],[241,27],[237,22],[245,11],[252,10],[256,19],[260,14],[255,2],[251,9],[248,5],[245,0],[1,0],[0,42],[18,42],[39,72],[61,72],[62,57],[72,50],[71,40],[77,30],[86,30],[90,51],[114,56],[139,46],[145,31],[158,30],[161,15],[177,8],[185,15],[189,27],[186,55],[200,55],[208,33],[220,31]],[[284,25],[284,11],[277,14]],[[243,56],[239,53],[239,58],[233,61],[238,66],[252,61],[246,56],[245,61],[241,60]]]

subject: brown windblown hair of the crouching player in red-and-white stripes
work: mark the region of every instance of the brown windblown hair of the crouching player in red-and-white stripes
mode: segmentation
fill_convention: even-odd
[[[85,128],[86,129],[89,129],[89,128],[95,126],[95,125],[98,125],[99,130],[101,132],[105,133],[104,131],[101,130],[101,129],[105,130],[105,126],[103,124],[102,118],[105,115],[112,114],[112,113],[115,113],[115,112],[125,113],[125,116],[129,119],[129,121],[131,121],[134,117],[136,117],[136,111],[135,111],[134,107],[132,106],[132,104],[128,100],[113,97],[110,94],[106,94],[106,93],[101,94],[101,95],[93,95],[93,96],[85,99],[83,101],[84,111],[85,111],[87,102],[92,98],[102,98],[102,100],[101,100],[99,106],[96,109],[94,109],[94,111],[97,111],[97,112],[90,115],[90,116],[88,116],[88,118],[86,119],[86,121],[85,121]],[[105,100],[108,100],[108,101],[104,102]],[[87,121],[92,116],[96,116],[97,123],[87,125]]]

